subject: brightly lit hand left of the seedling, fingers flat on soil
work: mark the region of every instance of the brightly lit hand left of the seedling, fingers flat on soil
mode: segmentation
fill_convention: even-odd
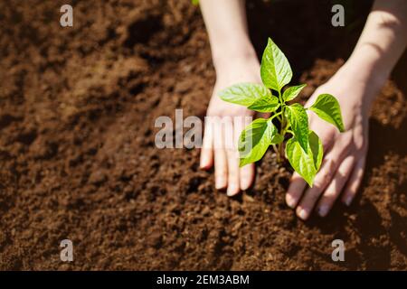
[[[207,170],[214,164],[215,188],[227,189],[228,196],[249,189],[254,180],[254,163],[240,168],[237,150],[241,131],[250,124],[249,117],[254,117],[254,111],[227,103],[218,96],[219,91],[239,82],[261,83],[256,57],[216,66],[216,83],[206,116],[220,118],[213,126],[206,122],[201,151],[201,168]],[[233,145],[230,145],[231,141]]]

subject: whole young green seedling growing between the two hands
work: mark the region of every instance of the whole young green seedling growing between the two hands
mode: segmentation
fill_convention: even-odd
[[[260,76],[263,84],[239,83],[219,94],[224,101],[273,113],[269,119],[254,120],[241,132],[240,165],[259,161],[270,145],[280,161],[284,157],[283,142],[287,139],[285,152],[289,163],[312,187],[322,162],[323,148],[318,135],[308,128],[307,110],[344,132],[339,104],[330,94],[319,95],[308,108],[298,103],[289,104],[306,85],[284,89],[292,78],[292,70],[284,53],[270,38],[261,59]]]

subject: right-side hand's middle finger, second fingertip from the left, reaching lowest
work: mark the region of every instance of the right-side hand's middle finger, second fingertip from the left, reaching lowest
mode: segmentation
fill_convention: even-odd
[[[328,154],[324,160],[321,169],[317,172],[317,175],[314,180],[314,185],[312,188],[309,188],[305,193],[302,199],[299,202],[297,207],[297,215],[300,219],[308,219],[309,215],[314,208],[315,204],[322,191],[327,188],[329,182],[331,182],[338,163],[340,163],[338,156],[336,154]]]

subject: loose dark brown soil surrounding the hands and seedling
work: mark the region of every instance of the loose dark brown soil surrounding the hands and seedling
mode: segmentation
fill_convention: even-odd
[[[73,27],[59,23],[64,4]],[[328,1],[247,5],[259,53],[272,36],[305,101],[349,55],[370,4],[345,28]],[[354,204],[303,222],[271,152],[230,199],[198,150],[156,148],[156,117],[204,117],[215,79],[190,1],[2,1],[0,27],[0,269],[407,269],[405,56],[374,104]],[[345,262],[331,259],[336,238]]]

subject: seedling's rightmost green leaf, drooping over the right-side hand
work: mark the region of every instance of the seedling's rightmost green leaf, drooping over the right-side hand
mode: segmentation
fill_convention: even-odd
[[[336,98],[330,94],[321,94],[316,102],[309,107],[318,117],[321,117],[328,123],[336,126],[339,131],[345,132],[344,122],[342,120],[341,107]]]

